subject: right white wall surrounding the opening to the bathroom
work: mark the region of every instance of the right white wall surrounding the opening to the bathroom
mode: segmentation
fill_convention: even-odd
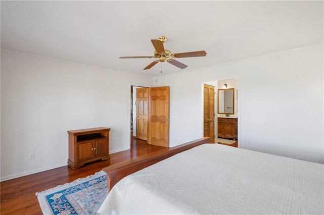
[[[170,86],[170,146],[203,137],[201,83],[236,77],[241,148],[324,163],[323,44],[155,77]]]

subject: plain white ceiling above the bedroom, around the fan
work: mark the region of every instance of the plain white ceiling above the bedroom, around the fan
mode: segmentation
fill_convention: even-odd
[[[179,69],[154,59],[167,36]],[[1,1],[1,48],[116,71],[159,76],[323,43],[323,1]]]

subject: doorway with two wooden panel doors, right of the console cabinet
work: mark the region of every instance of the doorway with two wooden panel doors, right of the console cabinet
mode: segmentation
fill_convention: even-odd
[[[131,141],[169,147],[169,87],[131,85]]]

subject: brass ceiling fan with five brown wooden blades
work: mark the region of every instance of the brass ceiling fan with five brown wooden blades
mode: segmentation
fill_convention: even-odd
[[[191,57],[204,57],[206,56],[206,51],[191,51],[183,53],[171,53],[170,50],[165,49],[163,43],[167,40],[167,37],[160,36],[158,39],[151,39],[151,42],[155,48],[154,56],[133,56],[133,57],[119,57],[120,59],[130,59],[130,58],[157,58],[158,60],[153,61],[144,70],[152,68],[158,62],[165,62],[179,67],[180,69],[187,68],[188,66],[176,61],[175,58],[191,58]]]

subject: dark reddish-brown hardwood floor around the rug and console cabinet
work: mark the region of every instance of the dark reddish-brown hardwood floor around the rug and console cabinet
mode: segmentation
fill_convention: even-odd
[[[146,141],[132,139],[131,149],[110,154],[109,161],[98,161],[86,164],[77,170],[67,166],[36,173],[0,183],[1,200],[0,213],[5,214],[42,214],[36,192],[41,192],[57,185],[72,182],[100,171],[104,167],[114,165],[125,160],[143,156],[167,148],[147,144]]]

